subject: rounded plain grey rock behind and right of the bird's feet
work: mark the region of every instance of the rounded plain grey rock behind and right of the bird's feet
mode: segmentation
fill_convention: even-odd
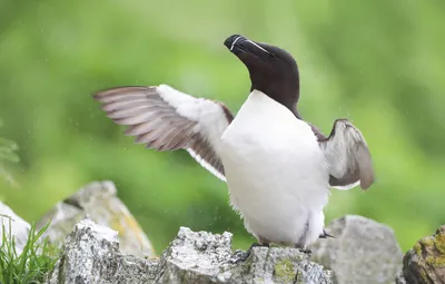
[[[342,283],[390,283],[400,271],[402,251],[392,228],[362,216],[333,221],[312,247],[313,258]]]

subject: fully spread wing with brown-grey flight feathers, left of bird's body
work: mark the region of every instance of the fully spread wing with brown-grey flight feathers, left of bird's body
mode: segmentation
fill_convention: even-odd
[[[135,143],[156,150],[187,149],[206,169],[226,180],[218,156],[219,138],[234,119],[227,107],[195,98],[167,85],[117,87],[99,91],[93,98]]]

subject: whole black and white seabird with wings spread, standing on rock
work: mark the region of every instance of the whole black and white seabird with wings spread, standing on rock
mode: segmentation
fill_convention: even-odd
[[[156,150],[186,149],[227,182],[230,204],[258,243],[305,249],[324,231],[330,187],[374,182],[362,133],[337,119],[328,137],[297,111],[299,75],[285,50],[234,35],[224,45],[247,67],[251,88],[238,114],[167,85],[117,87],[93,97],[126,135]]]

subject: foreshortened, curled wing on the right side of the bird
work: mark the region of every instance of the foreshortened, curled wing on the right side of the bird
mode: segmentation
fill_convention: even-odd
[[[337,119],[326,139],[319,140],[329,165],[329,184],[337,189],[360,185],[367,189],[374,183],[369,149],[360,130],[349,120]]]

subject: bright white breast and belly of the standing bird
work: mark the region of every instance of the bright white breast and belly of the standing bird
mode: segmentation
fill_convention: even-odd
[[[254,90],[221,137],[230,202],[260,242],[306,246],[323,231],[325,157],[310,127]]]

